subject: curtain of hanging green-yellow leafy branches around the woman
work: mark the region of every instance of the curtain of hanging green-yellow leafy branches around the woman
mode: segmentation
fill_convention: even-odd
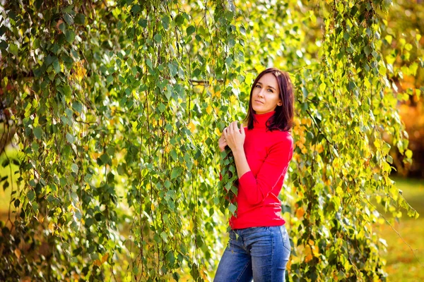
[[[257,73],[276,66],[293,75],[298,97],[282,195],[290,281],[383,280],[370,200],[416,214],[389,179],[389,149],[408,152],[408,140],[381,53],[388,8],[5,4],[1,87],[20,176],[9,188],[16,219],[1,230],[1,278],[208,280],[227,224],[220,130],[246,114]]]

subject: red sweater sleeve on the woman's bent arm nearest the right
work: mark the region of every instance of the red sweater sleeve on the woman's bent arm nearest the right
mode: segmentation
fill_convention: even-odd
[[[257,177],[247,171],[239,179],[239,193],[251,205],[261,203],[273,190],[281,175],[287,170],[293,156],[293,138],[290,135],[281,138],[269,148]]]

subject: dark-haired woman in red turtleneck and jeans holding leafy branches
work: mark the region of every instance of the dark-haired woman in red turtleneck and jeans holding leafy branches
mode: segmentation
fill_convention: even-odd
[[[237,214],[214,281],[284,281],[290,240],[281,191],[293,154],[293,86],[288,73],[267,68],[250,91],[247,127],[230,123],[218,140],[230,147],[238,176]]]

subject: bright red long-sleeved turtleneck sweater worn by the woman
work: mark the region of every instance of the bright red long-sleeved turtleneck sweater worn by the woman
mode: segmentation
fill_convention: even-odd
[[[245,154],[250,171],[239,178],[236,216],[232,229],[281,226],[278,194],[293,155],[293,138],[287,131],[266,130],[266,121],[275,113],[254,114],[252,130],[245,127]]]

